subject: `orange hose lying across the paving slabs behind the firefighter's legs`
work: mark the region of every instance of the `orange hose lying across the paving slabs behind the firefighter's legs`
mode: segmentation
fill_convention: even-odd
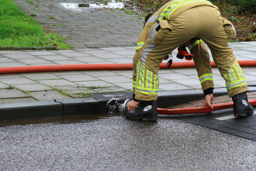
[[[238,61],[240,66],[256,66],[256,60]],[[211,62],[212,67],[216,67]],[[174,62],[170,68],[193,68],[194,62]],[[167,68],[166,63],[161,63],[160,68]],[[36,73],[50,71],[88,71],[88,70],[132,70],[133,64],[75,64],[75,65],[45,65],[45,66],[24,66],[24,67],[1,67],[0,74],[13,73]]]

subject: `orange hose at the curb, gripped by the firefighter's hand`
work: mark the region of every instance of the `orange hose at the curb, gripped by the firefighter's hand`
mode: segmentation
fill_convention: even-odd
[[[256,99],[252,99],[252,100],[248,100],[248,101],[252,106],[256,105]],[[191,107],[191,108],[177,108],[177,109],[157,108],[157,112],[159,114],[164,114],[164,115],[197,114],[197,113],[207,113],[207,112],[211,112],[211,111],[217,111],[220,109],[232,108],[233,105],[234,105],[233,102],[219,103],[219,104],[214,104],[213,109],[210,109],[208,106]]]

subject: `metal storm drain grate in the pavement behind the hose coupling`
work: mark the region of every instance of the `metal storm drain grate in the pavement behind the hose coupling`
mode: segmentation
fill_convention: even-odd
[[[112,98],[132,98],[132,92],[118,92],[118,93],[104,93],[104,94],[91,94],[95,100],[111,100]]]

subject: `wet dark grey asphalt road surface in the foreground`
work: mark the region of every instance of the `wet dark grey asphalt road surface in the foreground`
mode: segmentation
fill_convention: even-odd
[[[0,128],[0,170],[256,170],[256,142],[186,123],[125,118]]]

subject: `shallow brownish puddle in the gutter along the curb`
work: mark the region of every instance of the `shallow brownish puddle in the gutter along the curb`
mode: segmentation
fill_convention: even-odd
[[[19,120],[6,120],[0,121],[0,127],[16,126],[16,125],[28,125],[28,124],[42,124],[42,123],[56,123],[56,124],[69,124],[69,123],[85,123],[93,122],[96,119],[114,119],[123,117],[123,114],[112,115],[71,115],[71,116],[53,116],[44,118],[31,118],[31,119],[19,119]]]

